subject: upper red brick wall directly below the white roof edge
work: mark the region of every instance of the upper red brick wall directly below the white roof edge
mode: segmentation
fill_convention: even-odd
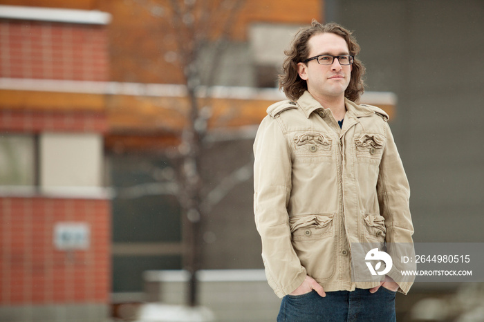
[[[104,26],[0,21],[0,77],[106,81]]]

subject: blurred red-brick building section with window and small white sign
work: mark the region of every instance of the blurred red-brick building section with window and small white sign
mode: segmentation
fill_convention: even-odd
[[[109,19],[0,6],[1,321],[109,315],[106,111],[64,88],[108,79]]]

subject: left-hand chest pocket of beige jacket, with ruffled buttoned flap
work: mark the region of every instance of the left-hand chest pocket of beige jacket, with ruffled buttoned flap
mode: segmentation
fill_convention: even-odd
[[[333,140],[324,133],[297,133],[293,138],[296,161],[321,162],[331,161]]]

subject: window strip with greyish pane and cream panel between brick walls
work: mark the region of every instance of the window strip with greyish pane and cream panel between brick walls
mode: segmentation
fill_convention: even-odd
[[[100,193],[102,140],[97,133],[0,133],[1,191]]]

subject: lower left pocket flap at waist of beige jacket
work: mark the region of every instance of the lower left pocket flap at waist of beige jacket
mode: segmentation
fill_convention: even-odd
[[[292,240],[313,240],[333,236],[333,214],[294,216],[289,219]]]

